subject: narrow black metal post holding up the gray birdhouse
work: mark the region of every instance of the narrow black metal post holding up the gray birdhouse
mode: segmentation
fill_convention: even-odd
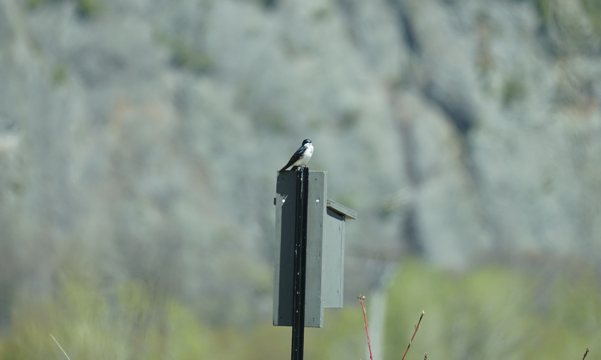
[[[294,224],[294,283],[292,360],[302,360],[305,340],[305,280],[307,278],[307,202],[309,168],[296,172],[296,222]]]

